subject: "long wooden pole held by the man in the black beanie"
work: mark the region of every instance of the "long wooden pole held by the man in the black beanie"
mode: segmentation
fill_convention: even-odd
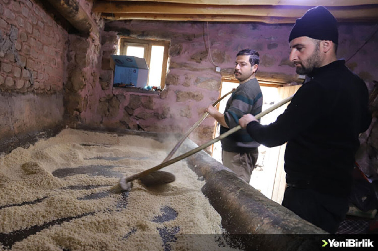
[[[291,95],[290,97],[283,99],[283,100],[280,101],[279,103],[277,103],[277,104],[275,104],[275,105],[269,107],[268,109],[264,110],[263,112],[260,112],[259,114],[257,114],[257,115],[255,116],[255,118],[256,118],[256,119],[260,119],[262,116],[265,116],[266,114],[270,113],[271,111],[276,110],[278,107],[280,107],[280,106],[282,106],[282,105],[288,103],[291,99],[293,99],[293,96],[294,96],[294,95]],[[204,148],[206,148],[206,147],[208,147],[208,146],[214,144],[215,142],[220,141],[221,139],[226,138],[227,136],[231,135],[231,134],[234,133],[234,132],[237,132],[237,131],[240,130],[240,129],[242,129],[242,127],[241,127],[240,125],[235,126],[234,128],[228,130],[227,132],[225,132],[225,133],[219,135],[217,138],[214,138],[214,139],[212,139],[211,141],[209,141],[209,142],[207,142],[207,143],[204,143],[203,145],[200,145],[199,147],[194,148],[193,150],[190,150],[189,152],[186,152],[186,153],[184,153],[184,154],[182,154],[182,155],[180,155],[180,156],[177,156],[176,158],[173,158],[173,159],[171,159],[171,160],[169,160],[169,161],[167,161],[167,162],[163,162],[163,163],[161,163],[160,165],[156,165],[155,167],[152,167],[152,168],[147,169],[147,170],[145,170],[145,171],[142,171],[142,172],[140,172],[140,173],[136,173],[136,174],[134,174],[134,175],[132,175],[132,176],[129,176],[129,177],[126,177],[126,178],[125,178],[125,177],[122,177],[122,178],[120,179],[120,181],[119,181],[119,185],[121,185],[121,188],[122,188],[122,189],[124,189],[124,190],[129,190],[130,187],[131,187],[131,186],[128,184],[129,182],[132,182],[132,181],[134,181],[134,180],[136,180],[136,179],[139,179],[139,178],[141,178],[141,177],[144,177],[144,176],[146,176],[147,174],[150,174],[150,173],[152,173],[152,172],[154,172],[154,171],[160,170],[160,169],[163,168],[163,167],[166,167],[166,166],[168,166],[168,165],[172,165],[172,164],[174,164],[174,163],[176,163],[176,162],[178,162],[178,161],[180,161],[180,160],[182,160],[182,159],[185,159],[185,158],[187,158],[187,157],[189,157],[189,156],[191,156],[191,155],[193,155],[193,154],[195,154],[195,153],[198,153],[199,151],[203,150]]]

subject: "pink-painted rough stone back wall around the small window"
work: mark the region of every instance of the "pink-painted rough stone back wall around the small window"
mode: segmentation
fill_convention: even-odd
[[[206,23],[200,22],[155,22],[155,21],[114,21],[106,24],[102,35],[102,70],[100,78],[107,82],[99,96],[116,96],[113,104],[119,106],[112,116],[101,113],[82,113],[81,118],[88,124],[103,124],[107,127],[126,127],[153,132],[186,132],[203,114],[203,110],[219,96],[221,74],[215,72],[206,53],[208,39],[211,44],[213,61],[222,72],[232,72],[235,55],[244,48],[256,49],[260,53],[259,75],[296,75],[288,63],[288,34],[292,25],[272,25],[256,23],[209,23],[209,37]],[[339,58],[349,58],[372,34],[373,24],[340,24]],[[170,67],[166,89],[160,95],[149,95],[115,89],[112,71],[107,70],[110,55],[115,54],[115,44],[119,35],[136,38],[170,40]],[[118,35],[118,37],[117,37]],[[205,45],[206,43],[206,45]],[[347,62],[372,87],[372,80],[378,79],[375,70],[377,58],[375,36],[361,51]],[[96,96],[96,98],[99,98]],[[133,101],[135,96],[144,99],[139,106]],[[101,98],[100,98],[101,99]],[[104,98],[103,98],[104,99]],[[133,103],[133,102],[134,103]],[[141,104],[149,102],[143,107]],[[105,115],[105,116],[104,116]],[[101,117],[101,119],[100,119]],[[101,122],[100,122],[101,121]],[[138,126],[136,125],[138,124]],[[214,119],[207,118],[190,138],[197,144],[211,139]]]

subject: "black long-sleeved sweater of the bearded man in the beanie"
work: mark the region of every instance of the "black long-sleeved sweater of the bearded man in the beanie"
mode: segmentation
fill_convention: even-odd
[[[256,121],[246,130],[268,147],[287,142],[287,182],[310,182],[318,191],[347,196],[359,147],[358,135],[370,125],[368,92],[344,60],[315,69],[275,122]]]

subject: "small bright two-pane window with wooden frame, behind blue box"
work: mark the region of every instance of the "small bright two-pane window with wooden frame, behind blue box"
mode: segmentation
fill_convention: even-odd
[[[168,69],[169,41],[121,38],[119,54],[146,59],[148,86],[164,89]]]

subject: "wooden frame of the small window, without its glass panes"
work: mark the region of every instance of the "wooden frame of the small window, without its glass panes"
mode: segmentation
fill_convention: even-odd
[[[168,60],[169,60],[168,50],[170,46],[170,41],[121,37],[119,54],[126,55],[127,46],[144,47],[144,58],[146,59],[147,66],[150,67],[151,51],[152,51],[153,45],[164,46],[163,65],[161,67],[162,69],[161,69],[161,80],[160,80],[160,88],[161,90],[163,90],[165,87],[165,81],[166,81],[166,76],[167,76],[167,71],[168,71]],[[149,80],[150,80],[150,71],[148,71],[147,84],[149,83]]]

